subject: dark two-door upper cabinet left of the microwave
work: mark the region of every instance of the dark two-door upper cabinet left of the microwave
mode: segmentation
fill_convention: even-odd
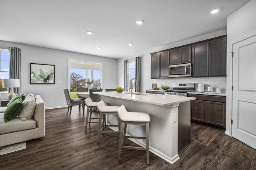
[[[151,54],[151,78],[169,77],[169,51]]]

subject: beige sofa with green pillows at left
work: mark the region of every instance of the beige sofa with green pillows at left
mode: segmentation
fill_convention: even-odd
[[[4,122],[6,107],[0,107],[0,147],[44,137],[44,101],[35,96],[36,107],[32,119],[16,117]]]

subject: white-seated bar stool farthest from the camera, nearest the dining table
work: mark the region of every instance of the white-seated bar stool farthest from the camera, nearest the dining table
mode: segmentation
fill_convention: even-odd
[[[99,121],[92,121],[92,119],[99,119],[99,117],[92,117],[92,109],[97,109],[98,102],[92,102],[91,98],[86,98],[84,102],[85,102],[85,105],[87,106],[86,123],[85,123],[85,130],[84,130],[86,131],[88,123],[89,123],[89,127],[90,127],[90,123],[99,123]],[[90,119],[89,119],[89,112],[90,112]]]

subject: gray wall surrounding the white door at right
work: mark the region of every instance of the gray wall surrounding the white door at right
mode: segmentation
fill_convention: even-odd
[[[226,134],[231,134],[232,117],[232,42],[252,33],[256,33],[256,0],[251,0],[227,18],[227,100]],[[236,69],[236,68],[233,68]],[[256,83],[256,82],[255,82]]]

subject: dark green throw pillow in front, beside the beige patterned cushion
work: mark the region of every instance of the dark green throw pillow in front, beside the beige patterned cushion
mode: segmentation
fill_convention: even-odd
[[[15,119],[22,109],[22,98],[18,98],[4,111],[4,122]]]

